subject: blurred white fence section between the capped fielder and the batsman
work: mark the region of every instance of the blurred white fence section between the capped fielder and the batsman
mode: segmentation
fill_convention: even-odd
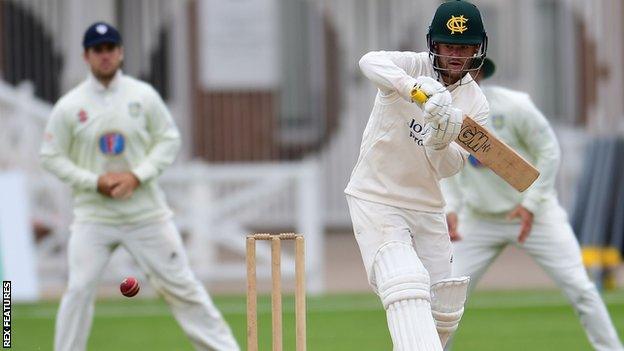
[[[241,262],[224,262],[223,249],[244,257],[245,235],[253,231],[296,231],[306,239],[308,291],[323,291],[324,229],[319,163],[190,163],[167,172],[162,184],[177,212],[195,271],[209,281],[243,278]],[[262,244],[262,243],[261,243]],[[257,251],[258,276],[270,273],[268,246]],[[292,255],[283,269],[294,274]]]

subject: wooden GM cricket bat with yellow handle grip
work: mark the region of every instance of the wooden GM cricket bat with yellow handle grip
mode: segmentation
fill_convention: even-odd
[[[428,98],[422,90],[412,90],[412,100],[424,104]],[[537,168],[524,157],[466,115],[455,142],[520,192],[539,176]]]

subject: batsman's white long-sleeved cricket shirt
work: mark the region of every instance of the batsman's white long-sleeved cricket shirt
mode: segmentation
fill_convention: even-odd
[[[410,210],[442,212],[445,203],[438,181],[463,167],[465,152],[454,142],[442,155],[423,146],[423,112],[409,100],[416,77],[437,78],[429,54],[370,52],[360,60],[360,68],[379,90],[345,193]],[[488,103],[470,75],[448,89],[454,107],[485,123]]]

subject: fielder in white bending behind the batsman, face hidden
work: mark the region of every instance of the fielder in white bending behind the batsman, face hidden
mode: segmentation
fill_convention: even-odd
[[[486,59],[483,75],[493,72],[493,62]],[[497,86],[484,86],[483,92],[490,103],[487,127],[541,174],[519,193],[471,158],[470,166],[442,182],[454,242],[453,275],[470,276],[474,287],[507,245],[520,247],[563,290],[594,349],[624,350],[557,200],[554,185],[560,151],[548,121],[525,93]]]

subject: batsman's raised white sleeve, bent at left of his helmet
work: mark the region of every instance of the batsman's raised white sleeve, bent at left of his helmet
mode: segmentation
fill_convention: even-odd
[[[372,81],[384,96],[397,92],[412,101],[411,92],[416,79],[409,75],[416,68],[416,53],[399,51],[371,51],[360,59],[362,73]]]

